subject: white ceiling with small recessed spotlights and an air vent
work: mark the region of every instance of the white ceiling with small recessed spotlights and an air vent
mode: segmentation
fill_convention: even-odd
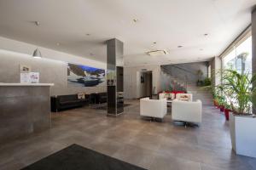
[[[104,62],[104,42],[116,37],[125,44],[125,65],[194,62],[219,55],[250,24],[255,3],[256,0],[0,0],[0,36]],[[32,23],[35,20],[40,26]],[[209,35],[205,37],[205,33]],[[183,48],[177,48],[179,45]],[[155,49],[166,49],[169,54],[145,54]]]

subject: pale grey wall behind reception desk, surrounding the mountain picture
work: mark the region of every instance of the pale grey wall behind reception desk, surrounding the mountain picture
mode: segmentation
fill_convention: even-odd
[[[106,69],[106,64],[48,48],[39,48],[43,58],[34,59],[32,58],[32,52],[35,48],[37,47],[32,44],[0,37],[0,82],[20,82],[20,65],[28,65],[32,67],[32,71],[40,73],[40,82],[55,83],[55,86],[51,88],[51,95],[76,94],[79,92],[90,94],[106,91],[106,86],[69,87],[67,85],[67,62],[102,69]]]

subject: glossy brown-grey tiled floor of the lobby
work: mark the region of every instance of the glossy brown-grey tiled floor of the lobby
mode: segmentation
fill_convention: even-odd
[[[69,144],[80,144],[148,169],[256,169],[256,159],[231,150],[224,115],[204,106],[200,127],[175,127],[171,116],[149,122],[139,116],[139,102],[127,101],[117,118],[84,107],[52,116],[52,128],[0,147],[0,169],[19,169]]]

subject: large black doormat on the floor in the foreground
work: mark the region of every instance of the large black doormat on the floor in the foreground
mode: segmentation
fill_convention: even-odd
[[[145,170],[78,144],[57,151],[21,170]]]

